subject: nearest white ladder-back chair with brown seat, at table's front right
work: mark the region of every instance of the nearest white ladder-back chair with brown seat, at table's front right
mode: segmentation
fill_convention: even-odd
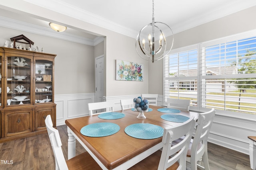
[[[162,138],[162,152],[160,150],[156,151],[129,168],[129,170],[185,170],[186,153],[188,151],[190,139],[192,138],[195,122],[194,117],[191,117],[188,121],[181,123],[180,125],[166,127]],[[175,147],[172,147],[172,141],[179,139],[184,135],[186,137]]]

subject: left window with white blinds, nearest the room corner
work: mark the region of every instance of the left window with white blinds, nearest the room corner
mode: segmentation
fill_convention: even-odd
[[[198,49],[194,47],[165,57],[165,101],[171,97],[193,100],[196,104]]]

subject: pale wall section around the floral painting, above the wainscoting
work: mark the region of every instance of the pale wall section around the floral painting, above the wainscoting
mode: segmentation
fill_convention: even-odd
[[[135,51],[135,39],[112,32],[107,36],[106,44],[106,96],[148,93],[148,61],[138,57]],[[115,80],[116,59],[144,64],[143,81]]]

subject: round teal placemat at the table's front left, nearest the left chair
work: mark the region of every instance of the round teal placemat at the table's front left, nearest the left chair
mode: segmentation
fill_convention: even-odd
[[[117,133],[120,126],[115,123],[100,122],[82,127],[80,133],[88,137],[104,137]]]

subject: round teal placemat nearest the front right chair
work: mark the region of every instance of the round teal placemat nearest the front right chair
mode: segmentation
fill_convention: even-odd
[[[164,129],[150,123],[136,123],[127,126],[125,133],[138,139],[156,139],[163,136]]]

